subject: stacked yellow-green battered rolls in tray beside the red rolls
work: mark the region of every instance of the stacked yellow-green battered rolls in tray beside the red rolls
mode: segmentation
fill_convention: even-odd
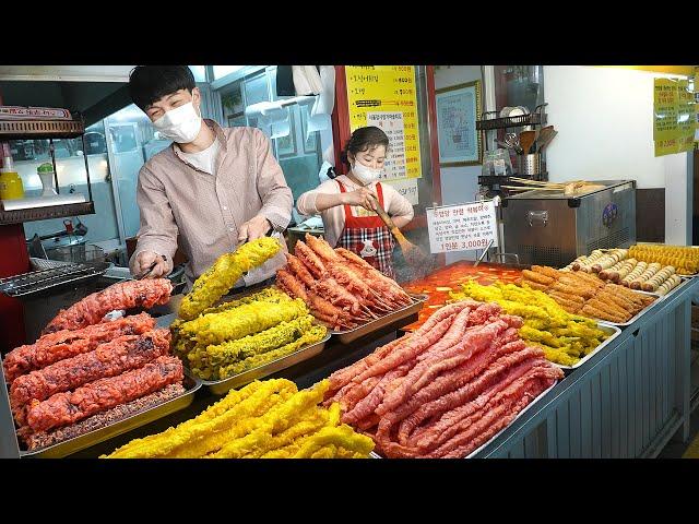
[[[320,342],[327,333],[300,299],[274,288],[176,320],[174,350],[192,373],[222,380]]]

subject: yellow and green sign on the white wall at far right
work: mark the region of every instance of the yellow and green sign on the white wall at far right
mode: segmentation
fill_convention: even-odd
[[[654,79],[653,140],[655,156],[691,151],[695,140],[695,94],[687,80]]]

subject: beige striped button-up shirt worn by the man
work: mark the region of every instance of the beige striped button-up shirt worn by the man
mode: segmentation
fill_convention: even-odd
[[[281,238],[292,218],[293,196],[284,174],[272,154],[270,141],[257,128],[213,129],[221,147],[215,176],[197,169],[175,144],[144,164],[139,172],[137,202],[141,228],[131,257],[131,273],[138,273],[135,257],[154,251],[167,258],[169,269],[180,247],[189,259],[189,284],[223,253],[238,246],[238,229],[262,215]],[[283,251],[286,250],[285,243]],[[285,263],[284,253],[250,271],[238,285],[250,285],[274,275]]]

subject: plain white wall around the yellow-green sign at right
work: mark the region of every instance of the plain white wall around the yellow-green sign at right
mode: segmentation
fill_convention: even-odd
[[[676,75],[588,66],[545,66],[550,181],[632,179],[666,188],[665,241],[690,243],[687,154],[654,156],[653,79]]]

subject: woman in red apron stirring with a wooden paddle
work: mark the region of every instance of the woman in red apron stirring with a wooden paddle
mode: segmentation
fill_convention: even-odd
[[[321,183],[301,194],[296,209],[304,215],[320,213],[325,240],[362,257],[393,277],[393,236],[376,214],[377,202],[401,228],[413,219],[413,205],[388,183],[379,182],[389,147],[389,138],[376,127],[352,133],[342,152],[350,166],[347,175]]]

